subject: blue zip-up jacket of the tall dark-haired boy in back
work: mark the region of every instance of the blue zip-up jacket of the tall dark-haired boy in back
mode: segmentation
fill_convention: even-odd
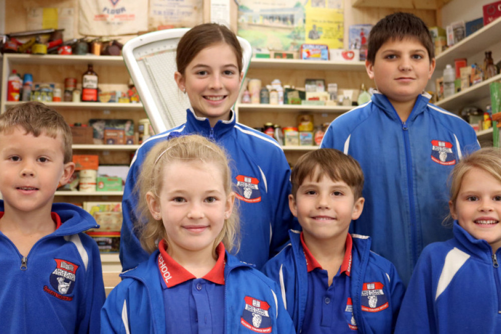
[[[369,235],[405,284],[424,246],[451,238],[441,225],[449,212],[447,177],[458,159],[480,148],[472,127],[418,96],[402,122],[386,96],[329,126],[321,147],[353,156],[365,175],[362,215],[350,232]]]

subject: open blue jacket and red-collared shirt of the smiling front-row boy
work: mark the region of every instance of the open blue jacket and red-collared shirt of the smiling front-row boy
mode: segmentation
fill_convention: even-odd
[[[370,251],[370,238],[348,234],[339,272],[328,286],[301,232],[269,260],[263,272],[280,284],[297,333],[389,333],[404,286],[390,261]]]

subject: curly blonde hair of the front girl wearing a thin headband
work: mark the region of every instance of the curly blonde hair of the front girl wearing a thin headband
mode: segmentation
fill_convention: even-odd
[[[146,194],[151,192],[158,198],[157,194],[160,193],[163,186],[163,171],[165,166],[177,161],[200,161],[215,164],[221,171],[226,196],[229,196],[232,192],[228,156],[214,142],[199,135],[188,135],[174,137],[153,146],[142,163],[139,180],[134,189],[139,198],[138,221],[135,222],[135,228],[139,232],[141,245],[149,253],[158,248],[158,241],[161,239],[166,241],[168,247],[169,239],[162,220],[156,220],[151,215],[146,201]],[[215,248],[221,241],[228,251],[238,251],[239,226],[237,209],[233,205],[233,211],[228,218],[224,219],[223,228],[214,240],[212,248],[214,255]]]

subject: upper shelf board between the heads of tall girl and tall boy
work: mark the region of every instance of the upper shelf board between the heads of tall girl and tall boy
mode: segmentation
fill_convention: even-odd
[[[253,58],[253,69],[310,70],[310,71],[365,71],[365,62],[331,62],[301,59]]]

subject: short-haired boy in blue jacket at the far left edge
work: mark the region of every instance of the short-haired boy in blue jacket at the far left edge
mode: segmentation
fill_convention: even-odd
[[[72,135],[64,118],[27,102],[0,115],[0,332],[98,333],[105,299],[97,227],[54,203],[68,182]],[[9,311],[7,311],[9,310]]]

